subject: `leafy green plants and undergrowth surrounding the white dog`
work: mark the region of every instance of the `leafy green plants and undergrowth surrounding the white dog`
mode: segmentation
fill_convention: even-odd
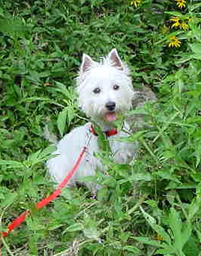
[[[31,210],[1,241],[1,255],[198,256],[201,249],[201,33],[200,3],[129,1],[5,1],[0,8],[0,224]],[[170,17],[188,31],[172,29]],[[181,47],[169,48],[177,35]],[[98,173],[103,188],[66,188],[37,212],[50,194],[44,162],[52,146],[43,128],[62,137],[86,122],[77,107],[74,78],[83,52],[98,59],[113,47],[130,66],[133,86],[150,86],[157,102],[146,127],[131,135],[139,157]],[[134,184],[134,185],[133,185]]]

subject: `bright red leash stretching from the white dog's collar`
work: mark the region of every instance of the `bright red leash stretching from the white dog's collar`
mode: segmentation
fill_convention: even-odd
[[[49,202],[51,202],[52,200],[55,200],[56,197],[58,197],[59,194],[62,193],[62,188],[65,188],[65,186],[68,184],[69,180],[71,179],[71,177],[74,175],[75,171],[77,170],[77,168],[80,165],[80,162],[82,161],[83,155],[86,152],[87,146],[89,145],[89,141],[91,140],[91,134],[89,135],[89,137],[86,140],[86,146],[83,146],[82,151],[80,152],[80,155],[78,156],[74,167],[70,170],[70,172],[68,173],[68,175],[65,177],[65,179],[58,185],[58,188],[52,193],[50,194],[48,197],[40,200],[40,202],[38,202],[36,204],[36,208],[40,209],[43,208],[43,206],[46,206]],[[23,223],[26,219],[27,215],[30,215],[31,212],[29,212],[29,210],[26,210],[25,212],[23,212],[18,218],[14,219],[12,221],[12,223],[10,223],[7,226],[7,231],[6,232],[1,232],[2,236],[7,236],[12,230],[16,229],[18,226],[20,226],[21,223]],[[1,250],[1,248],[0,248]],[[0,255],[1,255],[1,251],[0,251]]]

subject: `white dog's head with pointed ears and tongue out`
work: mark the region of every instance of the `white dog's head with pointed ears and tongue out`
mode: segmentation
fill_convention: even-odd
[[[133,98],[129,70],[115,49],[101,62],[83,54],[77,89],[86,115],[105,122],[115,121],[118,113],[128,110]]]

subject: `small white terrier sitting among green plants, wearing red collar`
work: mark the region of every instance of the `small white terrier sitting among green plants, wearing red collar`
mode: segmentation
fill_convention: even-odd
[[[124,143],[118,138],[128,137],[124,131],[116,131],[115,120],[118,114],[124,113],[131,107],[133,98],[133,86],[129,77],[126,65],[121,62],[117,50],[110,51],[108,56],[101,62],[94,62],[91,57],[83,55],[83,62],[77,77],[77,92],[79,104],[86,116],[92,122],[74,128],[69,134],[57,144],[54,157],[47,162],[49,173],[55,182],[62,182],[68,171],[80,154],[86,140],[91,137],[89,146],[83,160],[70,185],[79,182],[83,176],[94,176],[95,170],[104,171],[101,159],[95,157],[98,152],[98,135],[92,123],[96,123],[106,134],[113,152],[113,159],[116,163],[127,163],[136,155],[137,143]],[[124,129],[129,130],[124,124]],[[110,136],[111,135],[111,136]],[[85,182],[85,185],[95,194],[95,185],[92,182]]]

